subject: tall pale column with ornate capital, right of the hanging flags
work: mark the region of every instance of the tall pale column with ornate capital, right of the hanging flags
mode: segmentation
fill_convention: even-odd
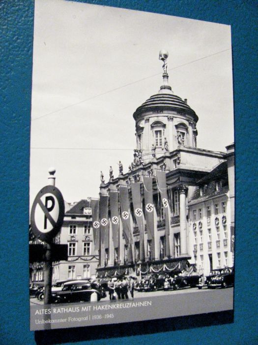
[[[187,186],[179,187],[179,207],[180,207],[180,256],[187,256],[187,221],[186,221],[186,193]]]

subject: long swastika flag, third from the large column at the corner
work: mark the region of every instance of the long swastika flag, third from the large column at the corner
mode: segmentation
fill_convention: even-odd
[[[145,261],[144,253],[144,224],[143,224],[143,206],[142,206],[142,197],[141,197],[141,183],[135,182],[131,185],[132,199],[134,214],[136,218],[136,223],[140,232],[140,260]]]

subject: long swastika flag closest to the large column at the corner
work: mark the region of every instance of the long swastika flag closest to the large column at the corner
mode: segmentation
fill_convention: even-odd
[[[165,238],[166,238],[166,256],[171,256],[170,251],[170,212],[169,212],[169,201],[168,201],[168,192],[167,192],[167,182],[166,182],[166,173],[161,171],[156,171],[157,186],[160,192],[161,203],[165,213]]]

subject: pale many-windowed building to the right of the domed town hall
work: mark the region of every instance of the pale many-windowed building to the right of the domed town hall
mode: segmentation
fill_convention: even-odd
[[[234,200],[229,189],[231,172],[231,152],[225,155],[226,161],[219,163],[203,177],[189,200],[189,249],[192,264],[205,276],[211,270],[232,267],[234,263],[234,230],[231,210]]]

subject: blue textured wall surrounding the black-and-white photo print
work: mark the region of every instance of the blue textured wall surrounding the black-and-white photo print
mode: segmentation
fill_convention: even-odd
[[[81,1],[84,2],[84,1]],[[234,323],[80,344],[258,344],[256,209],[258,2],[240,0],[95,0],[89,3],[231,25],[236,142]],[[58,14],[57,14],[58,15]],[[35,344],[29,332],[28,223],[32,0],[1,0],[0,344]],[[101,332],[101,331],[100,331]],[[144,333],[144,330],[143,330]],[[117,331],[117,334],[118,331]],[[69,339],[67,340],[69,341]]]

